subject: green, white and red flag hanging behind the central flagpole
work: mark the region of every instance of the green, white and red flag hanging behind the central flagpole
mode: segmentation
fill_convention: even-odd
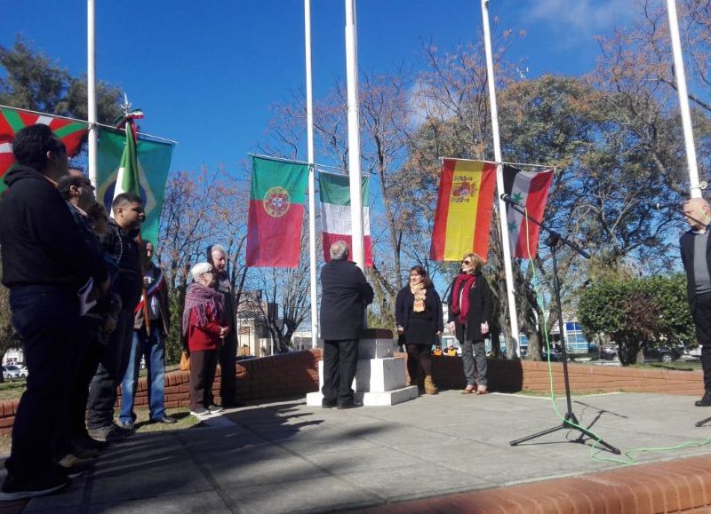
[[[365,265],[372,267],[371,209],[369,182],[363,178],[363,253]],[[350,178],[348,175],[318,172],[318,190],[321,200],[321,233],[324,241],[324,259],[331,260],[330,249],[335,241],[346,241],[350,247],[353,229],[350,223]]]

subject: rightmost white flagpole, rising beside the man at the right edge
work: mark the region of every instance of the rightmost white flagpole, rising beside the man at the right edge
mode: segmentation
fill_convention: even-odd
[[[689,96],[686,92],[686,75],[683,70],[682,43],[679,37],[679,20],[676,16],[675,0],[667,0],[667,14],[669,16],[669,35],[674,53],[676,91],[679,93],[679,108],[682,114],[683,139],[686,144],[686,162],[689,165],[690,195],[691,198],[701,198],[699,167],[696,163],[696,146],[694,146],[694,132],[691,128]]]

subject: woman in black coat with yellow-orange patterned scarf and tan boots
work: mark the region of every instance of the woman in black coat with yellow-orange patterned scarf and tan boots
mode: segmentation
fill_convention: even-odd
[[[422,370],[427,394],[436,394],[432,381],[430,351],[443,330],[442,301],[422,266],[410,270],[410,284],[400,289],[395,301],[397,333],[405,338],[410,384],[418,384]]]

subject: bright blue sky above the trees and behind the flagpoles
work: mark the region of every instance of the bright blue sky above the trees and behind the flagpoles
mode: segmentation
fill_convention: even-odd
[[[172,171],[239,170],[264,139],[269,106],[305,83],[302,0],[96,4],[97,76],[143,109],[143,131],[179,142]],[[0,44],[12,45],[21,32],[80,75],[85,9],[80,0],[5,2]],[[627,0],[491,0],[491,20],[526,32],[507,57],[523,59],[529,76],[580,75],[595,65],[594,36],[629,22],[631,9]],[[401,62],[419,70],[423,42],[448,51],[482,33],[479,0],[358,0],[357,16],[359,66],[369,72]],[[316,98],[344,80],[344,17],[342,0],[311,2]]]

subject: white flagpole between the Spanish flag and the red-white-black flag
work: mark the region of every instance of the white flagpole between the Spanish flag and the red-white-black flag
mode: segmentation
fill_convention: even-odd
[[[504,174],[501,166],[501,143],[499,140],[499,115],[496,106],[496,85],[494,83],[494,65],[491,56],[491,31],[489,28],[489,0],[482,0],[483,42],[486,50],[486,76],[489,83],[489,103],[491,105],[491,136],[494,140],[494,160],[496,167],[496,189],[499,201],[499,221],[501,227],[501,246],[504,253],[504,268],[506,270],[506,292],[508,299],[508,314],[511,320],[511,352],[509,355],[519,357],[518,352],[518,320],[516,319],[516,300],[514,295],[514,272],[511,268],[511,250],[508,241],[508,226],[506,202],[501,200],[504,194]]]

